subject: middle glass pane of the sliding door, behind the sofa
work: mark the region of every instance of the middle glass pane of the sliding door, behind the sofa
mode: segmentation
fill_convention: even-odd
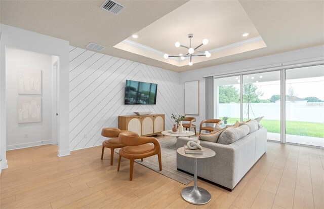
[[[243,120],[263,117],[268,139],[280,141],[280,71],[242,75]]]

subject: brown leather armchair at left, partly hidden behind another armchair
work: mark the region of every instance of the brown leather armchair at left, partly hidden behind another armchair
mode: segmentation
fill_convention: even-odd
[[[118,142],[118,136],[120,133],[123,132],[129,132],[129,131],[120,131],[120,129],[117,128],[103,128],[101,131],[101,136],[110,138],[102,142],[101,159],[103,158],[103,152],[105,148],[110,148],[110,165],[112,165],[113,163],[114,149],[125,147],[125,145],[119,144]]]

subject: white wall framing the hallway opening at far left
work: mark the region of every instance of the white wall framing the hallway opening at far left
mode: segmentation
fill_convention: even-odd
[[[2,40],[0,46],[0,143],[3,156],[2,168],[7,167],[6,162],[6,47],[21,49],[60,57],[60,136],[59,156],[68,155],[68,79],[69,79],[69,43],[66,40],[23,30],[9,25],[1,24]]]

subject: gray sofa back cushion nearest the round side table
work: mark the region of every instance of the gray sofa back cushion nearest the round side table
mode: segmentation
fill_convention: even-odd
[[[226,129],[219,136],[217,143],[218,144],[231,144],[242,137],[245,137],[249,134],[250,128],[246,125],[242,125],[233,129]]]

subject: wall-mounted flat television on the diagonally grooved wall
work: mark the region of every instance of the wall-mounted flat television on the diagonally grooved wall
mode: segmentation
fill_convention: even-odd
[[[156,104],[157,84],[126,80],[125,104]]]

